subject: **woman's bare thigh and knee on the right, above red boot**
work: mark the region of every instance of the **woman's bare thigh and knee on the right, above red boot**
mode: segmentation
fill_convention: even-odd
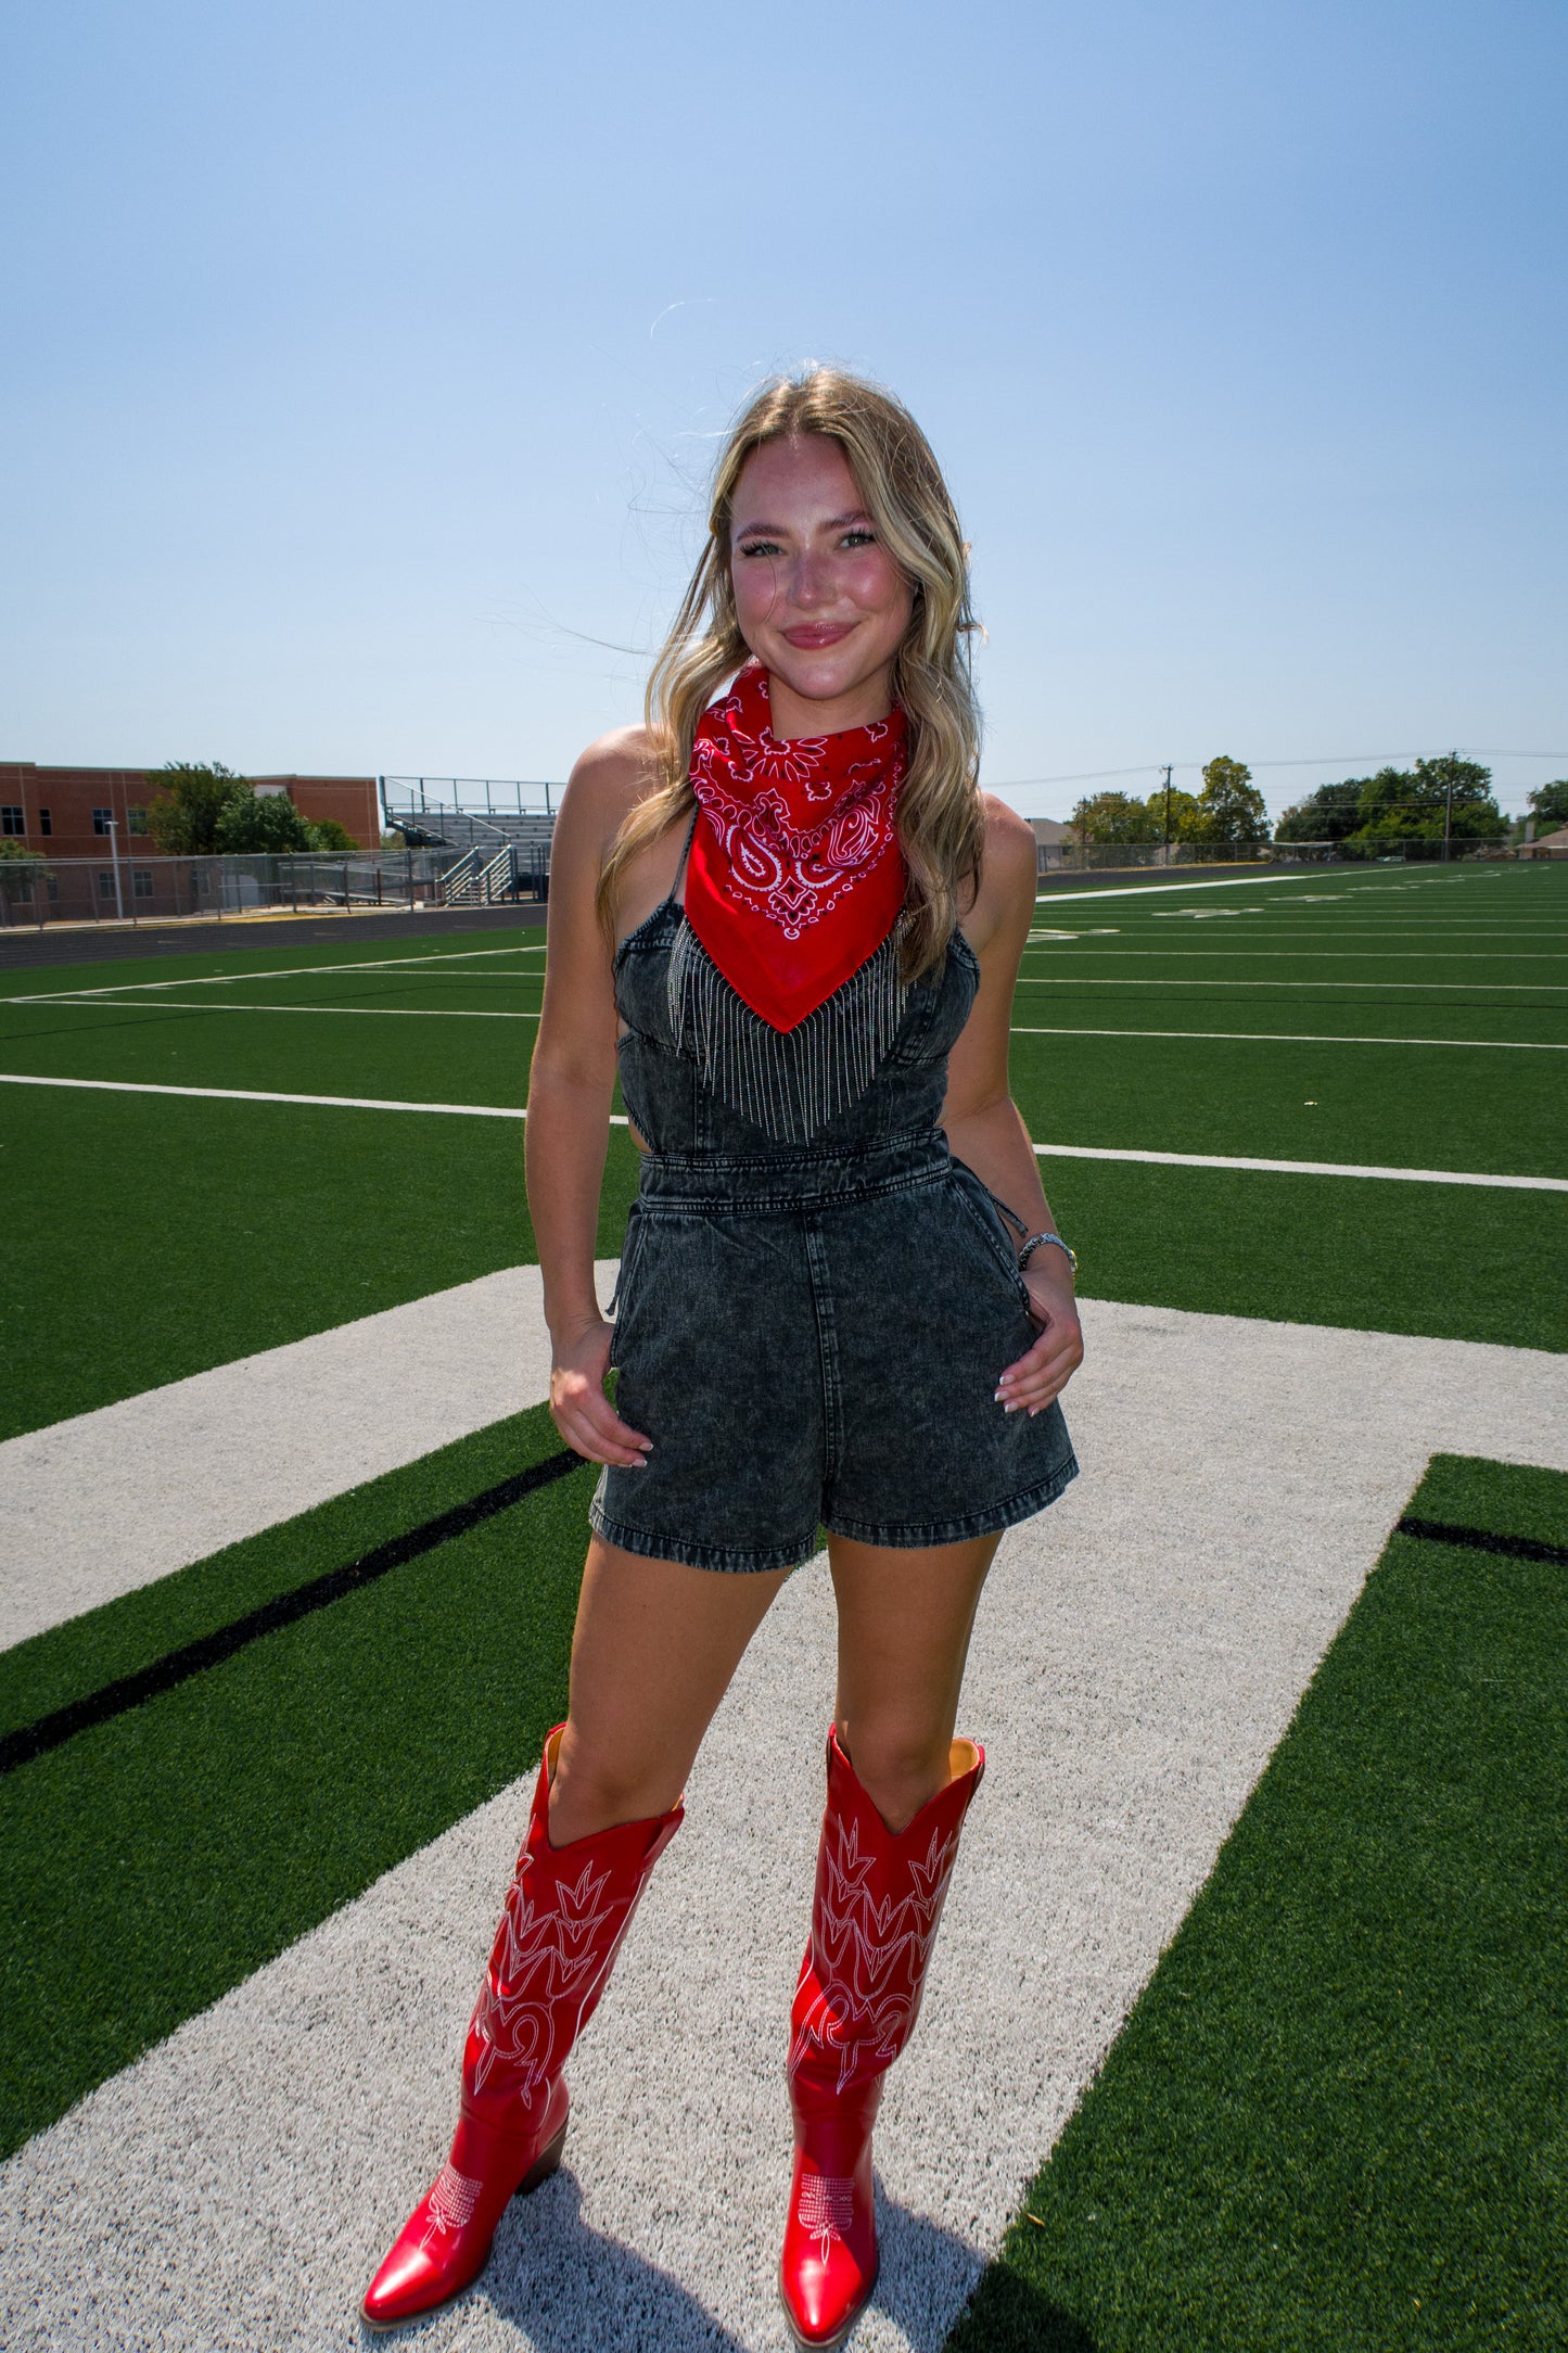
[[[889,1831],[903,1831],[947,1784],[969,1635],[997,1544],[976,1537],[905,1553],[827,1539],[839,1746]]]

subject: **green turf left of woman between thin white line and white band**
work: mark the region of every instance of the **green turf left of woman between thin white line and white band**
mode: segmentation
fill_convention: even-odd
[[[0,1094],[0,1438],[534,1257],[517,1120]],[[635,1186],[614,1129],[604,1257]]]

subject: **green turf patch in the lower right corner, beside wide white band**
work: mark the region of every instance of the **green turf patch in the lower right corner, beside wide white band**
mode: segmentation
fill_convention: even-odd
[[[1408,1511],[1568,1544],[1552,1471]],[[1561,1565],[1389,1539],[947,2353],[1568,2341],[1566,1638]]]

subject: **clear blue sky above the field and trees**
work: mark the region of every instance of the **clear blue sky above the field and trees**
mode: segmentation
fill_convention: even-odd
[[[1027,814],[1450,746],[1519,807],[1566,66],[1509,0],[12,0],[0,758],[562,776],[835,358],[947,466]]]

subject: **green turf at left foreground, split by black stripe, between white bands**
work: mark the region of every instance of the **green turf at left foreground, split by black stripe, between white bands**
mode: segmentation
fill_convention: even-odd
[[[559,1452],[501,1421],[0,1659],[5,1727]],[[592,1475],[0,1779],[0,2155],[527,1774]]]

